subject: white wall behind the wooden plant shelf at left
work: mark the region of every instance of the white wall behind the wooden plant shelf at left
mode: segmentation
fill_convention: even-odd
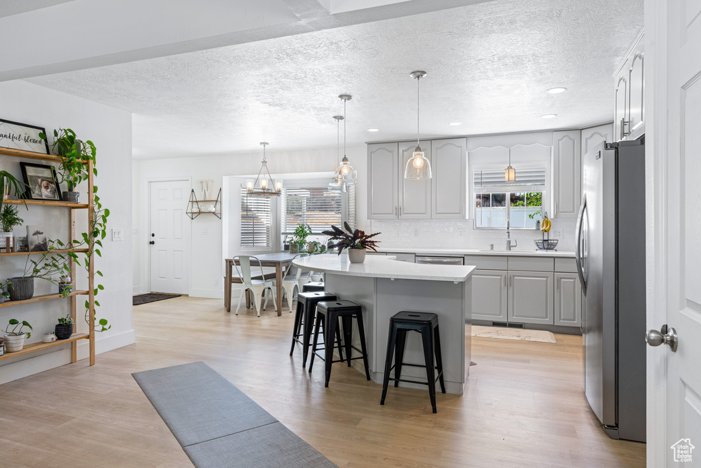
[[[131,165],[132,165],[132,126],[131,114],[106,105],[91,102],[73,95],[42,88],[25,81],[6,81],[0,83],[1,117],[12,121],[29,123],[46,128],[53,134],[54,128],[72,128],[79,138],[93,140],[97,147],[97,170],[95,185],[104,206],[111,214],[108,220],[108,236],[104,239],[102,258],[96,257],[95,265],[102,271],[104,278],[100,283],[104,291],[97,296],[101,307],[97,316],[105,318],[111,329],[97,333],[97,352],[102,353],[135,342],[132,328],[130,266],[123,262],[131,257]],[[13,173],[21,179],[19,159],[0,156],[0,168]],[[40,162],[40,161],[36,161]],[[86,187],[79,187],[81,201],[86,196]],[[20,235],[25,225],[41,224],[46,226],[51,238],[67,239],[67,208],[45,208],[32,206],[25,210],[20,206],[20,217],[25,220],[22,227],[15,227]],[[82,217],[82,218],[81,218]],[[79,213],[79,227],[85,226],[87,213]],[[121,228],[124,240],[111,241],[111,228]],[[26,235],[26,231],[25,234]],[[22,274],[25,267],[23,256],[0,258],[0,279]],[[57,292],[56,286],[48,281],[35,279],[35,294]],[[86,288],[87,280],[80,279],[78,287]],[[80,302],[80,301],[79,301]],[[5,328],[9,319],[26,320],[34,326],[29,343],[40,342],[43,333],[53,331],[57,318],[68,312],[67,302],[49,300],[32,302],[0,308],[0,325]],[[86,331],[87,325],[82,320],[79,307],[77,327]],[[70,362],[70,348],[52,348],[41,355],[27,354],[13,359],[0,361],[0,384],[25,377],[42,370],[50,369]],[[88,356],[88,342],[79,342],[79,359]],[[21,362],[20,362],[21,361]],[[100,359],[97,359],[99,363]]]

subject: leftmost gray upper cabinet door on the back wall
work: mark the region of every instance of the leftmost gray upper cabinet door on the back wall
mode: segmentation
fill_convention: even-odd
[[[397,206],[397,167],[399,145],[376,143],[367,145],[367,218],[395,220]],[[402,173],[402,177],[404,173]]]

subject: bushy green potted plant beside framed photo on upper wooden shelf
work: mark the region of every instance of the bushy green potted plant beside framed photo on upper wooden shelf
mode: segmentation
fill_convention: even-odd
[[[40,133],[42,140],[46,140],[46,134]],[[97,150],[90,140],[76,138],[76,133],[70,128],[59,128],[53,131],[54,141],[51,151],[61,158],[59,171],[56,175],[58,182],[66,182],[68,191],[63,192],[64,201],[78,203],[79,192],[74,192],[76,186],[88,180],[88,161],[95,163]]]

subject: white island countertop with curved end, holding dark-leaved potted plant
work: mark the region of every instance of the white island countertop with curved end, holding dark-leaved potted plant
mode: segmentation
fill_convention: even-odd
[[[399,262],[384,255],[367,255],[365,263],[351,263],[346,254],[311,255],[293,260],[292,265],[313,272],[344,276],[454,282],[465,281],[475,269],[475,267],[463,265],[422,265]]]

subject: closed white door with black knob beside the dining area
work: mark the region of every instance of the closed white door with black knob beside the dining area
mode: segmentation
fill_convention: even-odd
[[[185,214],[190,182],[151,182],[151,291],[187,294],[190,278],[190,218]]]

